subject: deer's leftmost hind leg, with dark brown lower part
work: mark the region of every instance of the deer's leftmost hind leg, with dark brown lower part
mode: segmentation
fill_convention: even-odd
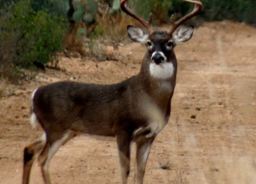
[[[30,171],[34,160],[42,152],[43,147],[45,146],[46,136],[43,133],[42,137],[37,141],[29,144],[24,148],[24,165],[23,165],[23,177],[22,184],[29,184]]]

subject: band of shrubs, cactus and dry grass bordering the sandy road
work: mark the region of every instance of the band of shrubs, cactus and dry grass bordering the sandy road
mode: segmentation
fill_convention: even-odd
[[[203,4],[202,14],[188,24],[228,19],[256,25],[255,0],[203,0]],[[129,6],[145,19],[152,12],[156,25],[167,24],[172,14],[178,19],[192,8],[181,0],[130,0]],[[0,79],[18,83],[49,63],[56,68],[57,55],[64,50],[94,57],[99,55],[96,46],[111,43],[118,48],[131,21],[119,8],[120,0],[0,0]]]

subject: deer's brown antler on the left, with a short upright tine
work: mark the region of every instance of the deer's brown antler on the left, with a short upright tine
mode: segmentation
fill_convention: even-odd
[[[130,17],[133,17],[134,19],[139,20],[139,22],[141,24],[143,24],[149,32],[152,32],[152,30],[153,30],[153,28],[152,28],[152,13],[149,14],[149,21],[147,21],[147,20],[143,19],[142,17],[140,17],[139,15],[135,14],[135,12],[131,11],[129,9],[129,7],[127,7],[127,1],[128,0],[121,1],[122,11],[124,11],[127,15],[130,15]]]

